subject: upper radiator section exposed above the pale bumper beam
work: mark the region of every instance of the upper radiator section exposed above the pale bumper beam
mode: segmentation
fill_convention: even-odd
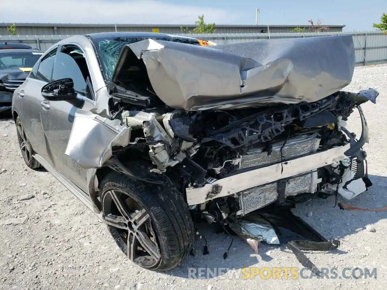
[[[241,157],[239,169],[250,167],[263,167],[281,162],[281,147],[284,141],[272,144],[272,152],[267,155],[264,147],[256,147],[248,150]],[[295,159],[304,155],[316,152],[320,145],[320,138],[317,134],[303,135],[295,138],[289,138],[282,148],[283,161]]]

